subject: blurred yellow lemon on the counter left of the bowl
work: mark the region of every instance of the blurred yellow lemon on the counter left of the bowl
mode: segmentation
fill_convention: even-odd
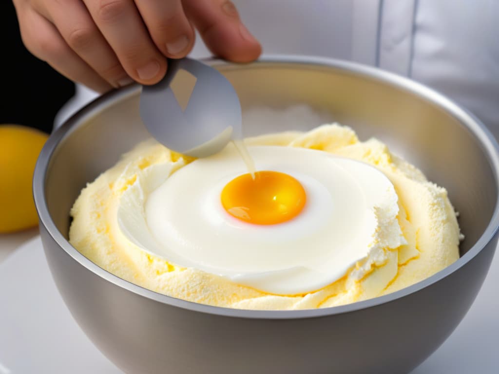
[[[33,171],[47,135],[23,126],[0,125],[0,233],[38,223]]]

